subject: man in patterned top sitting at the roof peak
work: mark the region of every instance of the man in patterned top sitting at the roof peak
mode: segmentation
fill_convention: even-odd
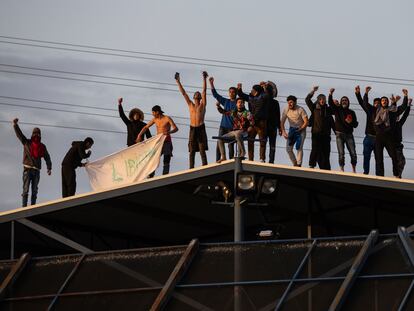
[[[254,119],[250,111],[247,111],[244,106],[244,100],[242,98],[237,99],[236,109],[226,110],[220,106],[220,103],[216,104],[217,110],[223,115],[231,116],[233,119],[233,131],[222,135],[223,138],[235,139],[237,142],[237,147],[239,149],[239,157],[244,158],[246,155],[246,150],[244,148],[243,139],[247,137],[249,128],[251,129],[254,126]],[[218,163],[226,160],[226,152],[224,151],[224,140],[219,139],[219,148],[220,148],[220,159]]]

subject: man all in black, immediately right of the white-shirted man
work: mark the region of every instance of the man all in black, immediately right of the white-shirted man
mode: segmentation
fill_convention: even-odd
[[[309,166],[314,168],[318,163],[320,169],[330,170],[331,162],[331,129],[332,129],[332,109],[326,105],[326,96],[319,94],[316,102],[312,102],[312,97],[319,89],[314,86],[312,91],[306,96],[305,102],[311,111],[312,126],[312,149],[309,156]]]

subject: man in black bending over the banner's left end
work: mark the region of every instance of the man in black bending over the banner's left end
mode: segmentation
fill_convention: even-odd
[[[91,155],[90,149],[93,145],[93,139],[85,138],[84,141],[72,142],[72,147],[66,153],[62,161],[62,197],[66,198],[76,193],[76,172],[77,167],[85,166],[83,159],[87,159]]]

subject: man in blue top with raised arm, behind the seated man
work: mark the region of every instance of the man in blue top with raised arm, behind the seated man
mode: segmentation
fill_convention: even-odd
[[[214,87],[214,78],[210,77],[210,87],[211,93],[213,97],[224,107],[224,110],[235,110],[236,109],[236,96],[237,96],[237,89],[234,86],[229,88],[229,97],[223,97],[217,93],[216,88]],[[233,119],[231,115],[223,114],[221,117],[220,128],[218,136],[223,136],[227,133],[230,133],[233,130]],[[219,148],[220,141],[217,141],[217,148],[216,148],[216,161],[220,160],[221,153]],[[229,158],[233,159],[234,157],[234,144],[229,144]]]

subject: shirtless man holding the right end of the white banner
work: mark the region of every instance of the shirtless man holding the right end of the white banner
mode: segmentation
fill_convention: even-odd
[[[162,170],[162,174],[166,175],[170,172],[170,161],[172,157],[172,141],[170,134],[175,133],[178,131],[178,127],[175,125],[174,121],[169,117],[164,115],[164,111],[161,110],[161,107],[156,105],[152,107],[152,115],[154,119],[148,122],[142,130],[139,132],[136,142],[140,142],[142,139],[142,135],[152,126],[155,124],[157,127],[157,134],[164,134],[167,137],[164,140],[164,145],[162,146],[162,153],[164,155],[164,166]]]

